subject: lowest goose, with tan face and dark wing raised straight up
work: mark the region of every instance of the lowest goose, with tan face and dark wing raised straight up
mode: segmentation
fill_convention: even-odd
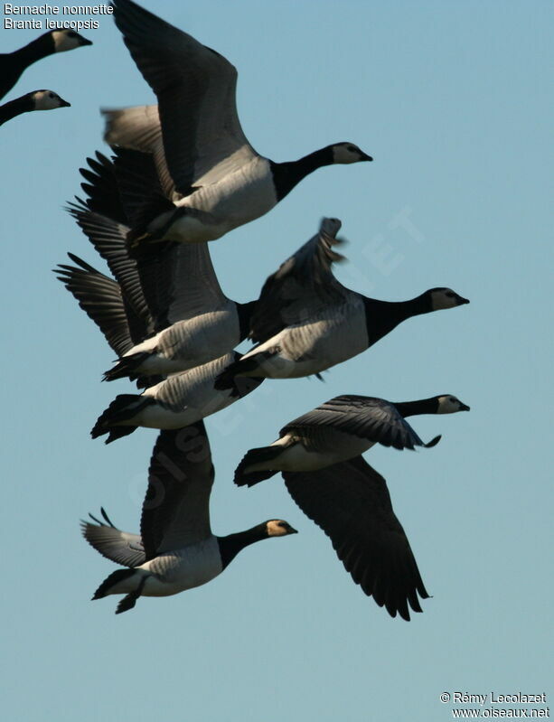
[[[202,422],[162,431],[156,441],[143,504],[140,534],[120,531],[102,510],[104,521],[81,522],[82,534],[117,569],[93,599],[123,594],[116,614],[136,605],[139,596],[168,596],[217,577],[239,551],[255,541],[296,534],[284,520],[263,521],[249,530],[216,537],[210,526],[214,470]]]

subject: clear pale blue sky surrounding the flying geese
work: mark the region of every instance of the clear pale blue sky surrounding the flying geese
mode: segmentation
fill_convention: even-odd
[[[230,297],[256,297],[332,215],[350,241],[337,269],[347,286],[387,300],[451,286],[471,304],[403,324],[324,383],[268,381],[207,420],[214,532],[280,517],[296,537],[128,614],[115,616],[117,597],[91,604],[116,567],[80,538],[79,519],[104,505],[138,530],[156,432],[89,438],[132,387],[100,383],[113,352],[50,269],[67,250],[102,267],[62,206],[80,192],[85,157],[106,150],[99,108],[154,97],[109,17],[83,33],[92,47],[28,70],[5,100],[51,88],[72,107],[0,128],[5,719],[445,722],[445,691],[548,694],[552,5],[148,5],[239,69],[239,115],[258,152],[285,161],[351,140],[375,158],[314,173],[212,243]],[[1,30],[1,49],[37,34]],[[434,449],[367,455],[433,595],[408,624],[352,583],[279,476],[232,483],[250,446],[342,393],[453,393],[472,408],[414,418],[423,438],[444,435]]]

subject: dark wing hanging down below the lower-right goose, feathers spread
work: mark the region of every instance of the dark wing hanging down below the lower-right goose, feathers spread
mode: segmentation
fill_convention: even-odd
[[[383,477],[362,456],[315,472],[283,472],[300,509],[331,539],[363,592],[409,621],[429,596]]]

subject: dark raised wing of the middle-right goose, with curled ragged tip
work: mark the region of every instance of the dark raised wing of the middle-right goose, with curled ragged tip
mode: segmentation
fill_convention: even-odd
[[[334,247],[341,221],[324,218],[314,238],[287,258],[268,277],[250,321],[250,337],[264,342],[289,325],[302,323],[324,306],[343,302],[349,293],[333,276],[333,263],[343,260]]]

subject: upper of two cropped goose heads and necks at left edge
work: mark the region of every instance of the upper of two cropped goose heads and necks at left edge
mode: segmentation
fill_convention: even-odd
[[[64,52],[80,48],[82,45],[92,45],[92,42],[83,38],[73,30],[52,30],[39,35],[38,38],[24,45],[14,52],[0,54],[0,98],[11,90],[21,77],[23,70],[40,61],[54,52]]]

